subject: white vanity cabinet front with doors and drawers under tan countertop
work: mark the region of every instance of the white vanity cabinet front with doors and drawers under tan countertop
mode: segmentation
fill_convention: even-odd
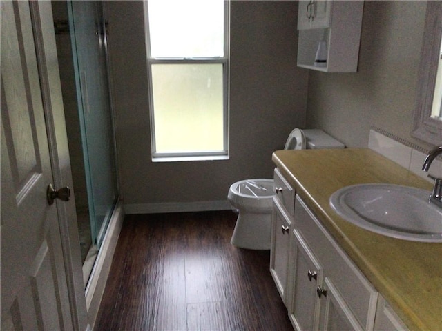
[[[294,329],[406,330],[278,169],[274,174],[270,270]]]

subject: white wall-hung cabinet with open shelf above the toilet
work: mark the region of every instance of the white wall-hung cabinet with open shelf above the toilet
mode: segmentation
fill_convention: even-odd
[[[363,1],[300,1],[298,66],[323,72],[356,72],[362,16]],[[315,61],[320,43],[326,62]]]

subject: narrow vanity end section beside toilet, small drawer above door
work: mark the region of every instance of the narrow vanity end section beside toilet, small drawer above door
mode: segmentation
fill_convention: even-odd
[[[270,273],[286,303],[290,232],[293,229],[295,192],[278,169],[274,172],[276,196],[273,198]]]

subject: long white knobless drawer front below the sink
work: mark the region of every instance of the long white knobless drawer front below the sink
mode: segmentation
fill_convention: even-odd
[[[294,228],[298,229],[321,261],[324,270],[327,270],[327,277],[334,283],[358,323],[364,330],[372,330],[378,293],[298,196]]]

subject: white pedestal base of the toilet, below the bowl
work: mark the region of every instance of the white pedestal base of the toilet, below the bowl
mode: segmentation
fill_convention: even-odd
[[[230,242],[239,248],[269,250],[271,245],[271,210],[268,213],[240,210]]]

